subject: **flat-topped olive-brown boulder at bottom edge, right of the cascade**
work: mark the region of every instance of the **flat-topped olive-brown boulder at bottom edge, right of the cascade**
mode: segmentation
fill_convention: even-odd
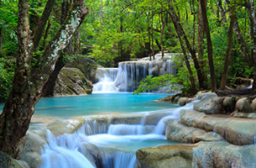
[[[190,168],[195,145],[165,145],[136,151],[136,158],[143,168]]]

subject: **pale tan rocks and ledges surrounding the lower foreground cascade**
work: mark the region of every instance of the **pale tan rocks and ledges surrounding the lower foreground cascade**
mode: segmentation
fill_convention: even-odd
[[[180,144],[137,150],[136,167],[255,167],[256,100],[217,97],[215,93],[200,93],[193,99],[200,99],[193,109],[180,110],[178,118],[164,119],[166,138]],[[179,104],[184,105],[193,99],[179,98]],[[160,111],[147,115],[113,113],[72,119],[35,116],[29,132],[20,141],[17,160],[0,153],[0,167],[40,167],[41,150],[48,143],[46,130],[61,136],[76,134],[84,128],[85,134],[90,135],[106,133],[111,124],[143,124],[150,133],[168,115]],[[93,132],[92,128],[98,132]],[[103,164],[99,160],[104,151],[116,151],[99,151],[93,144],[80,145],[79,149],[97,167]]]

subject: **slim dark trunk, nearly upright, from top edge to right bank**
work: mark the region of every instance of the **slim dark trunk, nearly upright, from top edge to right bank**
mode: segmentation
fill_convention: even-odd
[[[205,1],[200,1],[200,4],[201,4],[201,10],[202,10],[202,15],[203,15],[203,19],[204,19],[205,34],[206,34],[206,39],[207,39],[208,61],[209,61],[210,74],[211,74],[211,91],[215,92],[216,91],[216,78],[215,78],[215,71],[214,71],[214,65],[213,65],[213,59],[212,59],[211,34],[210,34],[209,23],[208,23],[206,8],[205,8],[206,3],[205,3]]]

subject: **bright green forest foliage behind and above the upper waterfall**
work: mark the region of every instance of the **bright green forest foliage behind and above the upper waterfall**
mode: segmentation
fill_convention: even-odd
[[[209,46],[202,5],[211,35],[216,88],[221,85],[227,52],[230,52],[227,78],[253,77],[253,14],[251,1],[237,0],[88,0],[90,13],[77,29],[69,49],[62,52],[63,64],[78,57],[96,60],[102,66],[154,55],[163,50],[184,53],[174,60],[179,65],[178,78],[186,92],[210,89]],[[18,49],[18,1],[0,1],[0,101],[12,88],[15,56]],[[29,1],[29,26],[35,28],[43,14],[46,0]],[[42,29],[37,55],[42,55],[48,41],[56,34],[72,1],[56,0],[47,24]],[[254,3],[254,2],[253,2]],[[233,16],[233,17],[231,17]],[[233,21],[232,21],[233,18]],[[234,23],[233,25],[232,22]],[[232,28],[231,28],[232,27]],[[229,28],[232,31],[229,31]],[[231,34],[232,33],[232,34]],[[231,38],[229,38],[231,34]],[[228,40],[230,39],[230,40]],[[231,45],[232,44],[232,45]],[[229,46],[229,51],[227,48]],[[188,60],[188,61],[186,61]],[[194,82],[194,83],[193,83]]]

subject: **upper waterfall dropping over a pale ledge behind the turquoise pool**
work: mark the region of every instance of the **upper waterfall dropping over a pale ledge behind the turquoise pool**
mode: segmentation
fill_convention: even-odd
[[[98,68],[93,92],[133,92],[139,87],[139,82],[146,76],[162,76],[176,74],[176,67],[171,55],[162,60],[156,56],[155,60],[143,58],[136,61],[120,62],[117,68]]]

